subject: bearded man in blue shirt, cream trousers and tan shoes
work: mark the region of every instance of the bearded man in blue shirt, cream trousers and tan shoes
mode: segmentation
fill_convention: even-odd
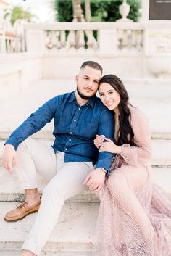
[[[17,209],[7,213],[5,220],[20,220],[40,207],[21,256],[40,255],[66,199],[85,191],[87,186],[99,191],[104,184],[112,154],[99,152],[98,156],[93,139],[96,134],[113,139],[114,121],[112,112],[96,97],[101,73],[102,67],[98,63],[84,62],[75,77],[76,91],[50,99],[6,141],[3,165],[12,173],[14,163],[26,197]],[[27,139],[52,118],[53,146]],[[96,169],[93,170],[95,162]],[[49,180],[42,199],[38,197],[36,171]]]

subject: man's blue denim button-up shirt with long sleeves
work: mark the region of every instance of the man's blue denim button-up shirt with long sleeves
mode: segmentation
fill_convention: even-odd
[[[30,115],[12,134],[5,144],[17,150],[19,144],[36,133],[54,118],[54,151],[64,152],[64,162],[96,163],[96,168],[108,170],[113,154],[98,152],[93,144],[95,135],[113,140],[114,117],[111,111],[93,96],[85,105],[79,106],[75,92],[50,99]]]

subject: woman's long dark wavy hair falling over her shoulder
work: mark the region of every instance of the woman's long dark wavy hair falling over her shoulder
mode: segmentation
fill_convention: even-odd
[[[122,144],[130,144],[130,146],[137,146],[134,141],[133,128],[130,125],[131,113],[128,107],[128,92],[125,89],[124,84],[120,78],[116,75],[104,75],[99,80],[99,86],[101,83],[109,83],[114,90],[120,94],[119,110],[119,137],[116,144],[121,146]]]

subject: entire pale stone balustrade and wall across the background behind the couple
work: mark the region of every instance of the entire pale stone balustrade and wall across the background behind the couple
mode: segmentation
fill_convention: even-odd
[[[9,84],[9,88],[12,86],[14,79],[10,74],[13,71],[19,80],[18,85],[21,80],[24,87],[28,86],[30,78],[70,78],[87,59],[101,63],[106,74],[170,79],[170,30],[171,21],[163,20],[28,23],[25,25],[25,44],[20,44],[23,36],[18,42],[16,38],[11,38],[13,41],[10,42],[9,37],[7,42],[7,35],[0,30],[0,52],[4,52],[0,54],[0,87],[5,84]],[[3,48],[1,42],[5,36]],[[27,51],[23,53],[25,45]],[[12,71],[14,67],[18,70]]]

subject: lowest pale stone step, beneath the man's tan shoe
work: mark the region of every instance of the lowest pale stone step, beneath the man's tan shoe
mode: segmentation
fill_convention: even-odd
[[[5,212],[15,207],[14,202],[1,202],[0,206],[0,255],[17,255],[36,214],[14,223],[4,221]],[[89,256],[96,225],[99,203],[67,202],[41,256]],[[3,232],[2,232],[3,231]],[[18,252],[19,253],[19,252]],[[19,254],[18,254],[19,255]]]

